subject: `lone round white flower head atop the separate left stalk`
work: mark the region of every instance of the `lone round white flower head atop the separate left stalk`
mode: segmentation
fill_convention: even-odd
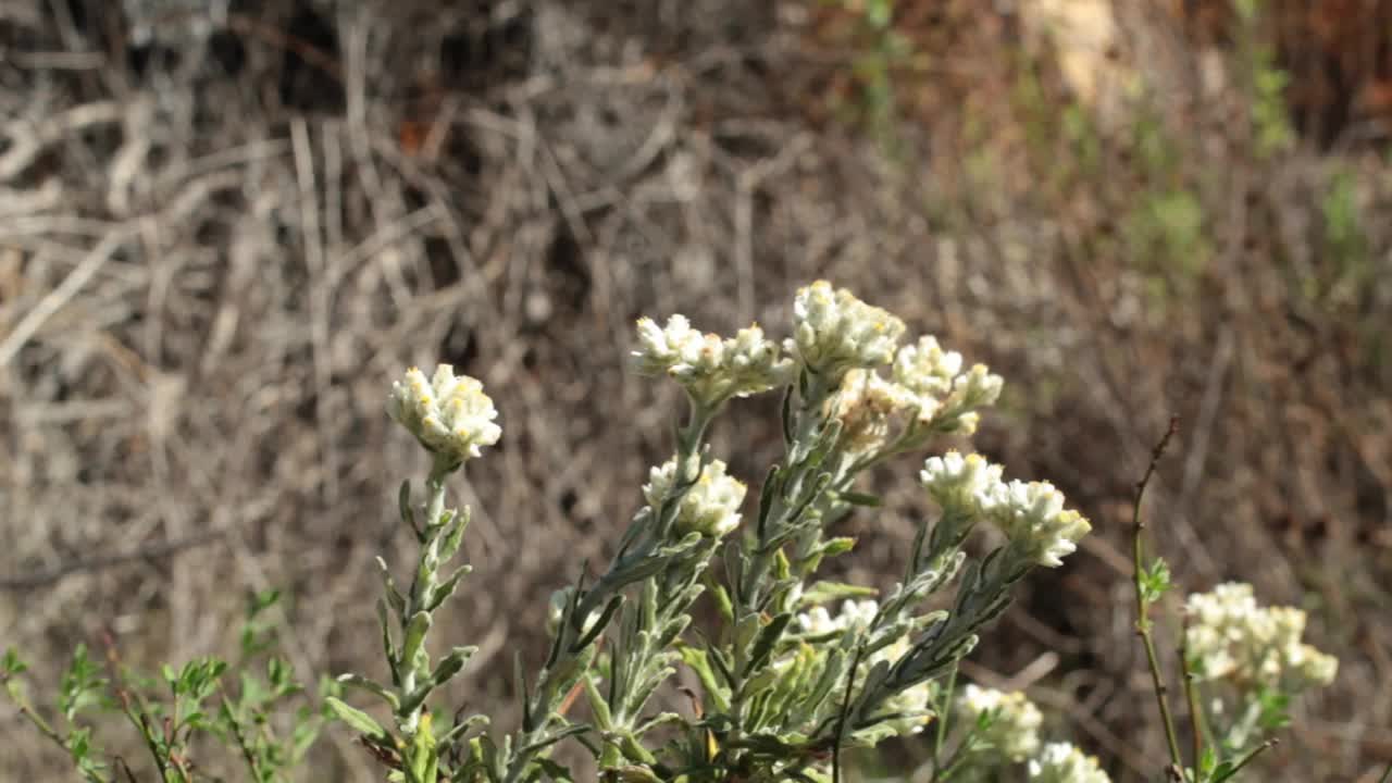
[[[429,380],[416,368],[406,371],[391,385],[387,415],[452,465],[477,457],[480,446],[493,446],[503,435],[493,422],[498,411],[483,385],[468,375],[457,376],[447,364],[437,366]]]

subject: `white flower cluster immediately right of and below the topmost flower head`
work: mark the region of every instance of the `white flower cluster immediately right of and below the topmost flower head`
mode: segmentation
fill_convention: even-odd
[[[894,382],[905,390],[917,418],[945,432],[976,432],[980,414],[976,408],[994,404],[1004,382],[986,365],[962,372],[962,354],[944,351],[937,337],[919,337],[894,357]]]

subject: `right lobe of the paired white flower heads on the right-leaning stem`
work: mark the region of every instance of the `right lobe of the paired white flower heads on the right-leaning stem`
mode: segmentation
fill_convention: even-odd
[[[1063,493],[1047,481],[1012,481],[977,500],[1011,543],[1040,566],[1062,566],[1093,529],[1082,514],[1063,509]]]

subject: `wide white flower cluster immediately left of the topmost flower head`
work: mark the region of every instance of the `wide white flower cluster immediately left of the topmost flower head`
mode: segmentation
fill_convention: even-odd
[[[692,329],[682,315],[668,318],[665,327],[640,318],[638,344],[632,354],[638,372],[671,376],[709,407],[767,392],[793,378],[793,362],[778,355],[778,344],[767,340],[757,325],[722,340]]]

